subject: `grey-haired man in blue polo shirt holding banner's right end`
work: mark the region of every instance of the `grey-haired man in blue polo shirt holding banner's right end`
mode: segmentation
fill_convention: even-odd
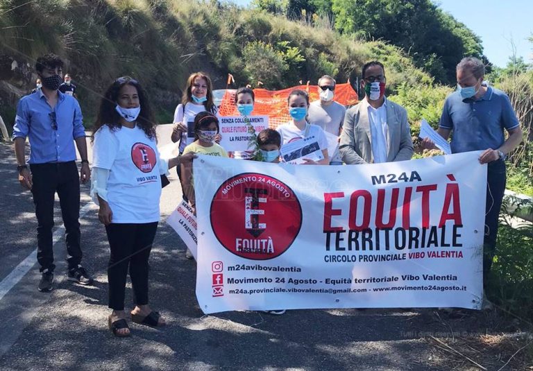
[[[484,86],[484,64],[477,58],[463,58],[457,64],[457,92],[444,103],[439,135],[453,132],[452,153],[482,150],[479,161],[488,164],[485,210],[483,284],[496,252],[498,215],[505,191],[505,157],[522,140],[522,130],[507,94]],[[504,130],[509,136],[505,139]],[[429,144],[428,140],[425,140]]]

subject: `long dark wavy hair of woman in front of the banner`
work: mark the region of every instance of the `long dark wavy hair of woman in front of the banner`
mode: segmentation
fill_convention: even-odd
[[[139,117],[137,117],[137,126],[142,128],[146,134],[146,137],[155,139],[156,124],[150,107],[150,102],[148,101],[148,96],[146,96],[146,91],[142,88],[137,80],[134,80],[129,76],[124,76],[117,78],[117,80],[115,80],[105,92],[105,95],[100,103],[98,117],[96,117],[96,122],[94,123],[91,141],[94,141],[94,133],[104,125],[109,126],[110,130],[117,130],[117,128],[121,128],[121,116],[115,110],[115,107],[117,106],[120,89],[124,85],[132,85],[137,89],[139,104],[141,105],[141,112],[139,113]]]

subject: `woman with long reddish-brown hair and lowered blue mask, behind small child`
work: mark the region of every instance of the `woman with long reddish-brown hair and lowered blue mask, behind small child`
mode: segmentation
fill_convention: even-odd
[[[195,72],[187,78],[187,87],[183,92],[182,103],[178,104],[176,111],[174,111],[174,128],[172,128],[171,140],[174,143],[180,141],[180,155],[185,146],[194,141],[194,117],[205,111],[217,115],[217,106],[214,105],[213,101],[213,85],[208,75],[203,72]],[[221,135],[217,135],[214,140],[219,143],[221,138]],[[181,181],[180,166],[178,166],[177,172]],[[185,193],[183,193],[183,198],[187,201]]]

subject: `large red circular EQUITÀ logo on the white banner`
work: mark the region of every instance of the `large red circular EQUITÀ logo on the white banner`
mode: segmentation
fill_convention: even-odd
[[[211,227],[228,251],[245,259],[279,257],[302,226],[302,208],[287,184],[259,173],[226,180],[211,202]]]

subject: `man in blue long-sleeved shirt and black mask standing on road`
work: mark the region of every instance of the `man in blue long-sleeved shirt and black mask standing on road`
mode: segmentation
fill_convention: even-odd
[[[53,202],[58,193],[65,240],[67,243],[68,279],[80,284],[92,284],[92,278],[81,266],[80,247],[80,182],[90,180],[87,142],[78,101],[58,92],[63,62],[54,54],[37,59],[35,69],[42,88],[24,96],[17,105],[13,126],[15,155],[19,182],[31,190],[37,216],[37,261],[42,278],[39,291],[53,289]],[[30,141],[30,159],[26,165],[26,137]],[[74,139],[74,140],[73,140]],[[76,149],[81,155],[78,178]]]

